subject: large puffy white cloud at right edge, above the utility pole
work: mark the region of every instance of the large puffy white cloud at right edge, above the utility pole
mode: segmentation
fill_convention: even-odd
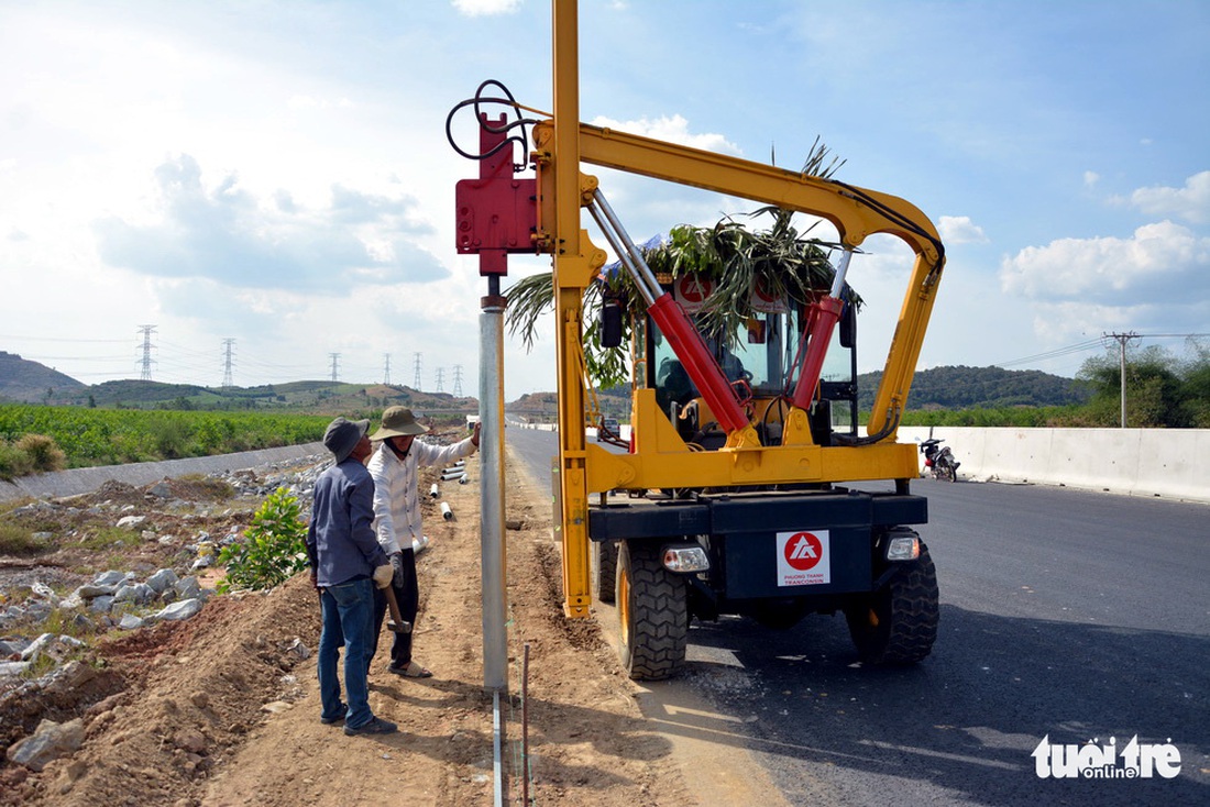
[[[1210,296],[1210,238],[1171,221],[1130,238],[1060,238],[1001,265],[1004,292],[1045,301],[1131,305],[1162,295]]]

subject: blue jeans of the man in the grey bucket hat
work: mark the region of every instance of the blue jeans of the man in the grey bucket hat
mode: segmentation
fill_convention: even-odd
[[[321,714],[324,719],[339,717],[344,711],[340,702],[340,680],[336,662],[340,649],[345,649],[345,692],[348,714],[345,725],[351,728],[364,726],[374,715],[370,713],[369,680],[367,669],[374,629],[374,583],[355,580],[339,586],[319,589],[323,628],[319,633],[317,670],[319,675]]]

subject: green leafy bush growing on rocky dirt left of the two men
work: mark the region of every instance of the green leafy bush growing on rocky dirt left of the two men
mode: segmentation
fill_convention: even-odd
[[[284,488],[271,494],[252,517],[243,540],[223,548],[219,563],[226,577],[220,594],[237,588],[272,588],[307,567],[306,524],[299,500]]]

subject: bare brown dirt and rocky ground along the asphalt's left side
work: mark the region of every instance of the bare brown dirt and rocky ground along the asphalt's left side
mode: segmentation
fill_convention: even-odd
[[[339,726],[319,724],[318,605],[305,576],[269,593],[209,593],[218,572],[206,559],[224,541],[238,540],[278,485],[309,500],[321,467],[220,480],[235,489],[232,497],[215,480],[168,480],[146,489],[110,485],[4,515],[36,526],[48,544],[34,558],[0,558],[0,639],[10,642],[8,663],[22,663],[39,636],[51,639],[21,674],[0,679],[0,749],[7,748],[0,805],[491,802],[477,457],[468,462],[471,484],[442,484],[453,520],[442,520],[436,500],[426,501],[431,542],[419,557],[415,653],[434,676],[387,674],[382,650],[371,668],[371,708],[398,722],[398,734],[346,737]],[[422,490],[438,473],[426,471]],[[668,740],[643,720],[636,688],[597,624],[561,616],[546,486],[517,463],[507,473],[505,801],[699,803]],[[129,517],[143,520],[116,526]],[[106,571],[121,572],[113,594],[87,588]],[[150,580],[157,573],[156,586],[169,576],[174,582],[156,590]],[[117,600],[122,586],[143,601],[133,594]],[[98,604],[104,596],[114,600]],[[202,605],[196,615],[163,616],[186,600]],[[126,617],[144,623],[127,619],[123,628]],[[381,645],[388,642],[385,634]],[[30,737],[41,737],[48,750],[16,761],[30,756]]]

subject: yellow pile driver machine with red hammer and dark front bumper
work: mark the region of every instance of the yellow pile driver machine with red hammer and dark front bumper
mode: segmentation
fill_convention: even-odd
[[[473,105],[480,122],[479,152],[459,149],[480,166],[459,183],[459,252],[479,255],[496,294],[507,254],[553,256],[566,616],[589,616],[595,578],[598,596],[617,605],[622,662],[639,680],[674,674],[691,619],[725,613],[789,627],[842,612],[866,663],[924,658],[937,636],[937,575],[914,529],[928,519],[926,500],[909,491],[916,446],[898,443],[897,430],[945,264],[935,227],[894,196],[582,123],[574,0],[553,0],[553,115],[523,117],[489,81],[450,117]],[[502,96],[484,96],[488,87]],[[517,120],[490,117],[482,106],[491,102]],[[515,145],[526,155],[519,163]],[[688,298],[647,267],[584,163],[822,217],[840,236],[831,287],[809,301],[766,300],[738,339],[703,335]],[[583,298],[606,264],[582,227],[584,211],[643,299],[632,312],[624,454],[584,433]],[[846,277],[872,234],[906,242],[915,265],[862,433]],[[893,490],[852,485],[866,480],[893,480]]]

